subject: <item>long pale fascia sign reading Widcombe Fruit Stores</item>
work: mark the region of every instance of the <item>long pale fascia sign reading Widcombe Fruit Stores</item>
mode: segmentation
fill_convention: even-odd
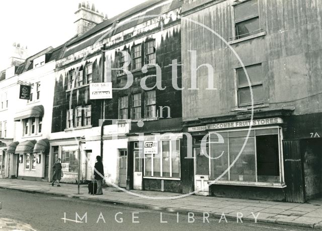
[[[251,125],[251,122],[252,122],[252,126],[259,126],[259,125],[282,124],[283,120],[281,118],[269,118],[269,119],[253,120],[253,121],[237,121],[237,122],[227,122],[227,123],[219,123],[219,124],[208,124],[208,125],[188,128],[188,132],[249,127]]]

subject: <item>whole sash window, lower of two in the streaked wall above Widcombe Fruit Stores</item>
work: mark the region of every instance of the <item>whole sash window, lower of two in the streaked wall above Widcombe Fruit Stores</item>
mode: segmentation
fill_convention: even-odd
[[[246,67],[246,71],[250,77],[251,87],[253,91],[254,104],[263,103],[263,72],[262,65],[253,65]],[[237,94],[238,106],[248,106],[252,104],[250,85],[243,68],[236,69],[237,74]]]

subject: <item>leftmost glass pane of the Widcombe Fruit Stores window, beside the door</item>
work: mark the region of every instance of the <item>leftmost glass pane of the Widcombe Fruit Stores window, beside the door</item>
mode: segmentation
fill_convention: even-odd
[[[219,139],[221,138],[222,139]],[[210,134],[210,164],[211,180],[217,179],[228,168],[228,138],[227,133]],[[207,149],[208,151],[208,149]],[[228,172],[220,179],[228,181]]]

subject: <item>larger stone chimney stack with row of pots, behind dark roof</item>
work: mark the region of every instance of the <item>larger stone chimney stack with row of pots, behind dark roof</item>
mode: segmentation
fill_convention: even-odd
[[[104,16],[103,13],[99,13],[95,5],[92,4],[91,7],[89,2],[79,3],[75,15],[76,21],[74,24],[76,25],[76,33],[78,36],[107,19],[107,15]]]

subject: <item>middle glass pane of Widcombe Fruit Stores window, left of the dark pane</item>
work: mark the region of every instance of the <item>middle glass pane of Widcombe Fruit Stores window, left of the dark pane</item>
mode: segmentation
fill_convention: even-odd
[[[246,137],[229,137],[229,162],[237,157]],[[255,138],[249,137],[243,153],[230,168],[230,181],[256,182]]]

